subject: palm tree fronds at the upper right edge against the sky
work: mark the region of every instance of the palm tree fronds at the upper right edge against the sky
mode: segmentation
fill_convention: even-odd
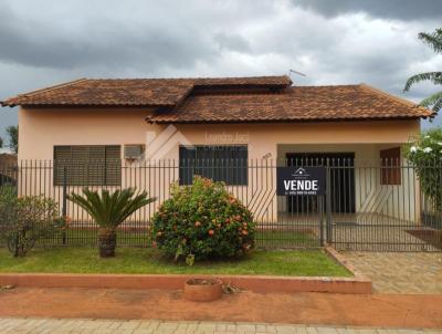
[[[442,28],[436,29],[433,33],[419,33],[419,39],[429,44],[435,53],[442,53]],[[403,88],[403,92],[408,92],[413,84],[422,81],[431,81],[435,85],[442,84],[442,72],[427,72],[411,76]],[[423,101],[420,105],[424,107],[432,107],[433,112],[438,112],[442,108],[442,92],[438,92]]]

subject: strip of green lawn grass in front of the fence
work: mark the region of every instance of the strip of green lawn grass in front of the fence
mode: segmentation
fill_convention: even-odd
[[[12,258],[0,249],[0,272],[150,273],[150,274],[269,274],[351,276],[323,250],[256,250],[242,260],[173,263],[151,248],[118,248],[114,259],[99,259],[95,248],[35,249],[25,258]]]

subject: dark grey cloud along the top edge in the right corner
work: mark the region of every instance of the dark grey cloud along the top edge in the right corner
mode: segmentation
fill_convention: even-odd
[[[325,17],[365,12],[377,18],[399,20],[440,19],[441,0],[293,0]]]

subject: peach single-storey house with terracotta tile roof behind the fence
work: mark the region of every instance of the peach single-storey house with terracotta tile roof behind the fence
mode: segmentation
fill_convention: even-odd
[[[400,169],[400,147],[432,112],[366,84],[82,79],[1,104],[20,106],[19,160],[53,164],[49,188],[63,180],[69,187],[135,185],[161,201],[169,182],[202,174],[224,180],[259,220],[274,222],[317,212],[319,205],[276,196],[275,167],[328,160],[336,167],[333,212],[419,220],[418,185]],[[141,167],[151,164],[162,167],[147,175]]]

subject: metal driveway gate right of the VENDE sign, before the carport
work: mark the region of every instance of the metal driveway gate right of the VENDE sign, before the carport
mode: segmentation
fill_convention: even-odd
[[[379,166],[380,165],[380,166]],[[440,166],[429,166],[441,173]],[[442,215],[421,189],[417,169],[407,161],[338,164],[327,177],[352,169],[356,210],[327,211],[327,239],[341,250],[441,251]],[[339,171],[338,171],[339,173]],[[433,185],[435,188],[441,185]]]

